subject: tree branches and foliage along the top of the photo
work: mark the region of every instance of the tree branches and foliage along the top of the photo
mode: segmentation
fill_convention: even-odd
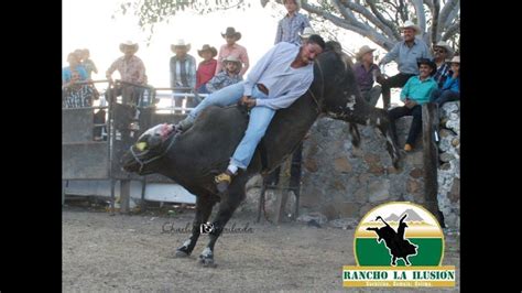
[[[265,7],[270,0],[260,0]],[[282,0],[275,0],[282,4]],[[138,0],[120,6],[120,13],[134,13],[139,24],[152,34],[154,24],[168,22],[178,11],[200,14],[228,9],[249,9],[244,0]],[[460,39],[459,0],[301,0],[302,10],[313,19],[356,32],[389,51],[401,41],[400,26],[417,23],[428,44],[448,42],[458,51]]]

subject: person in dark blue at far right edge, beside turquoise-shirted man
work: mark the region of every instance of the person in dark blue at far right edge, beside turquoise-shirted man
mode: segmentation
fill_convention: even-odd
[[[432,101],[441,108],[446,101],[460,99],[460,56],[453,57],[448,78],[441,89],[432,93]]]

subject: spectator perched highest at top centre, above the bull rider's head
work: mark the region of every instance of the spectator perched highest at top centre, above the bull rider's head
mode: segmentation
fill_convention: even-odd
[[[298,13],[300,4],[297,0],[283,0],[284,8],[287,13],[278,23],[278,32],[275,33],[275,42],[289,42],[301,45],[300,34],[309,25],[308,19]]]

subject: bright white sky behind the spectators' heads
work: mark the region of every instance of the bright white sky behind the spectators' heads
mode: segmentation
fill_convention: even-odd
[[[250,66],[253,66],[272,47],[278,21],[286,11],[283,6],[273,2],[262,8],[259,0],[246,1],[251,4],[251,8],[246,10],[230,9],[205,15],[187,11],[178,12],[168,24],[156,25],[148,46],[145,44],[148,34],[140,30],[137,17],[111,18],[120,0],[63,0],[62,67],[68,66],[66,62],[68,53],[76,48],[89,48],[90,58],[98,67],[98,74],[93,74],[93,79],[105,79],[107,68],[122,55],[119,44],[126,40],[133,40],[140,45],[135,55],[145,64],[149,84],[154,87],[168,87],[168,61],[174,55],[171,44],[184,39],[192,46],[188,54],[199,63],[202,58],[197,55],[197,50],[202,48],[203,44],[210,44],[219,50],[225,44],[221,33],[227,26],[233,26],[242,34],[238,44],[247,47]],[[378,47],[367,39],[345,30],[340,30],[337,37],[350,52],[365,44]],[[384,53],[382,50],[377,51],[378,54],[379,52]],[[118,74],[115,73],[113,78],[117,77]]]

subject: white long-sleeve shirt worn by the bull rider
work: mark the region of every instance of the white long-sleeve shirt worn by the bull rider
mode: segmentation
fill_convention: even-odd
[[[244,82],[244,96],[251,96],[255,84],[269,89],[267,99],[258,99],[257,106],[274,110],[290,107],[306,93],[314,80],[314,64],[300,68],[290,65],[300,53],[300,46],[286,42],[274,45],[252,67]]]

